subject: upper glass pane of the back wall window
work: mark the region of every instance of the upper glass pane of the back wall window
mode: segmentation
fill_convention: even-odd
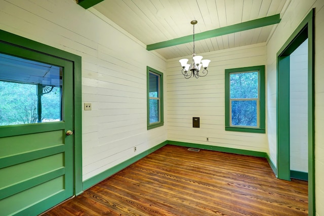
[[[230,98],[258,98],[258,72],[231,73]]]

